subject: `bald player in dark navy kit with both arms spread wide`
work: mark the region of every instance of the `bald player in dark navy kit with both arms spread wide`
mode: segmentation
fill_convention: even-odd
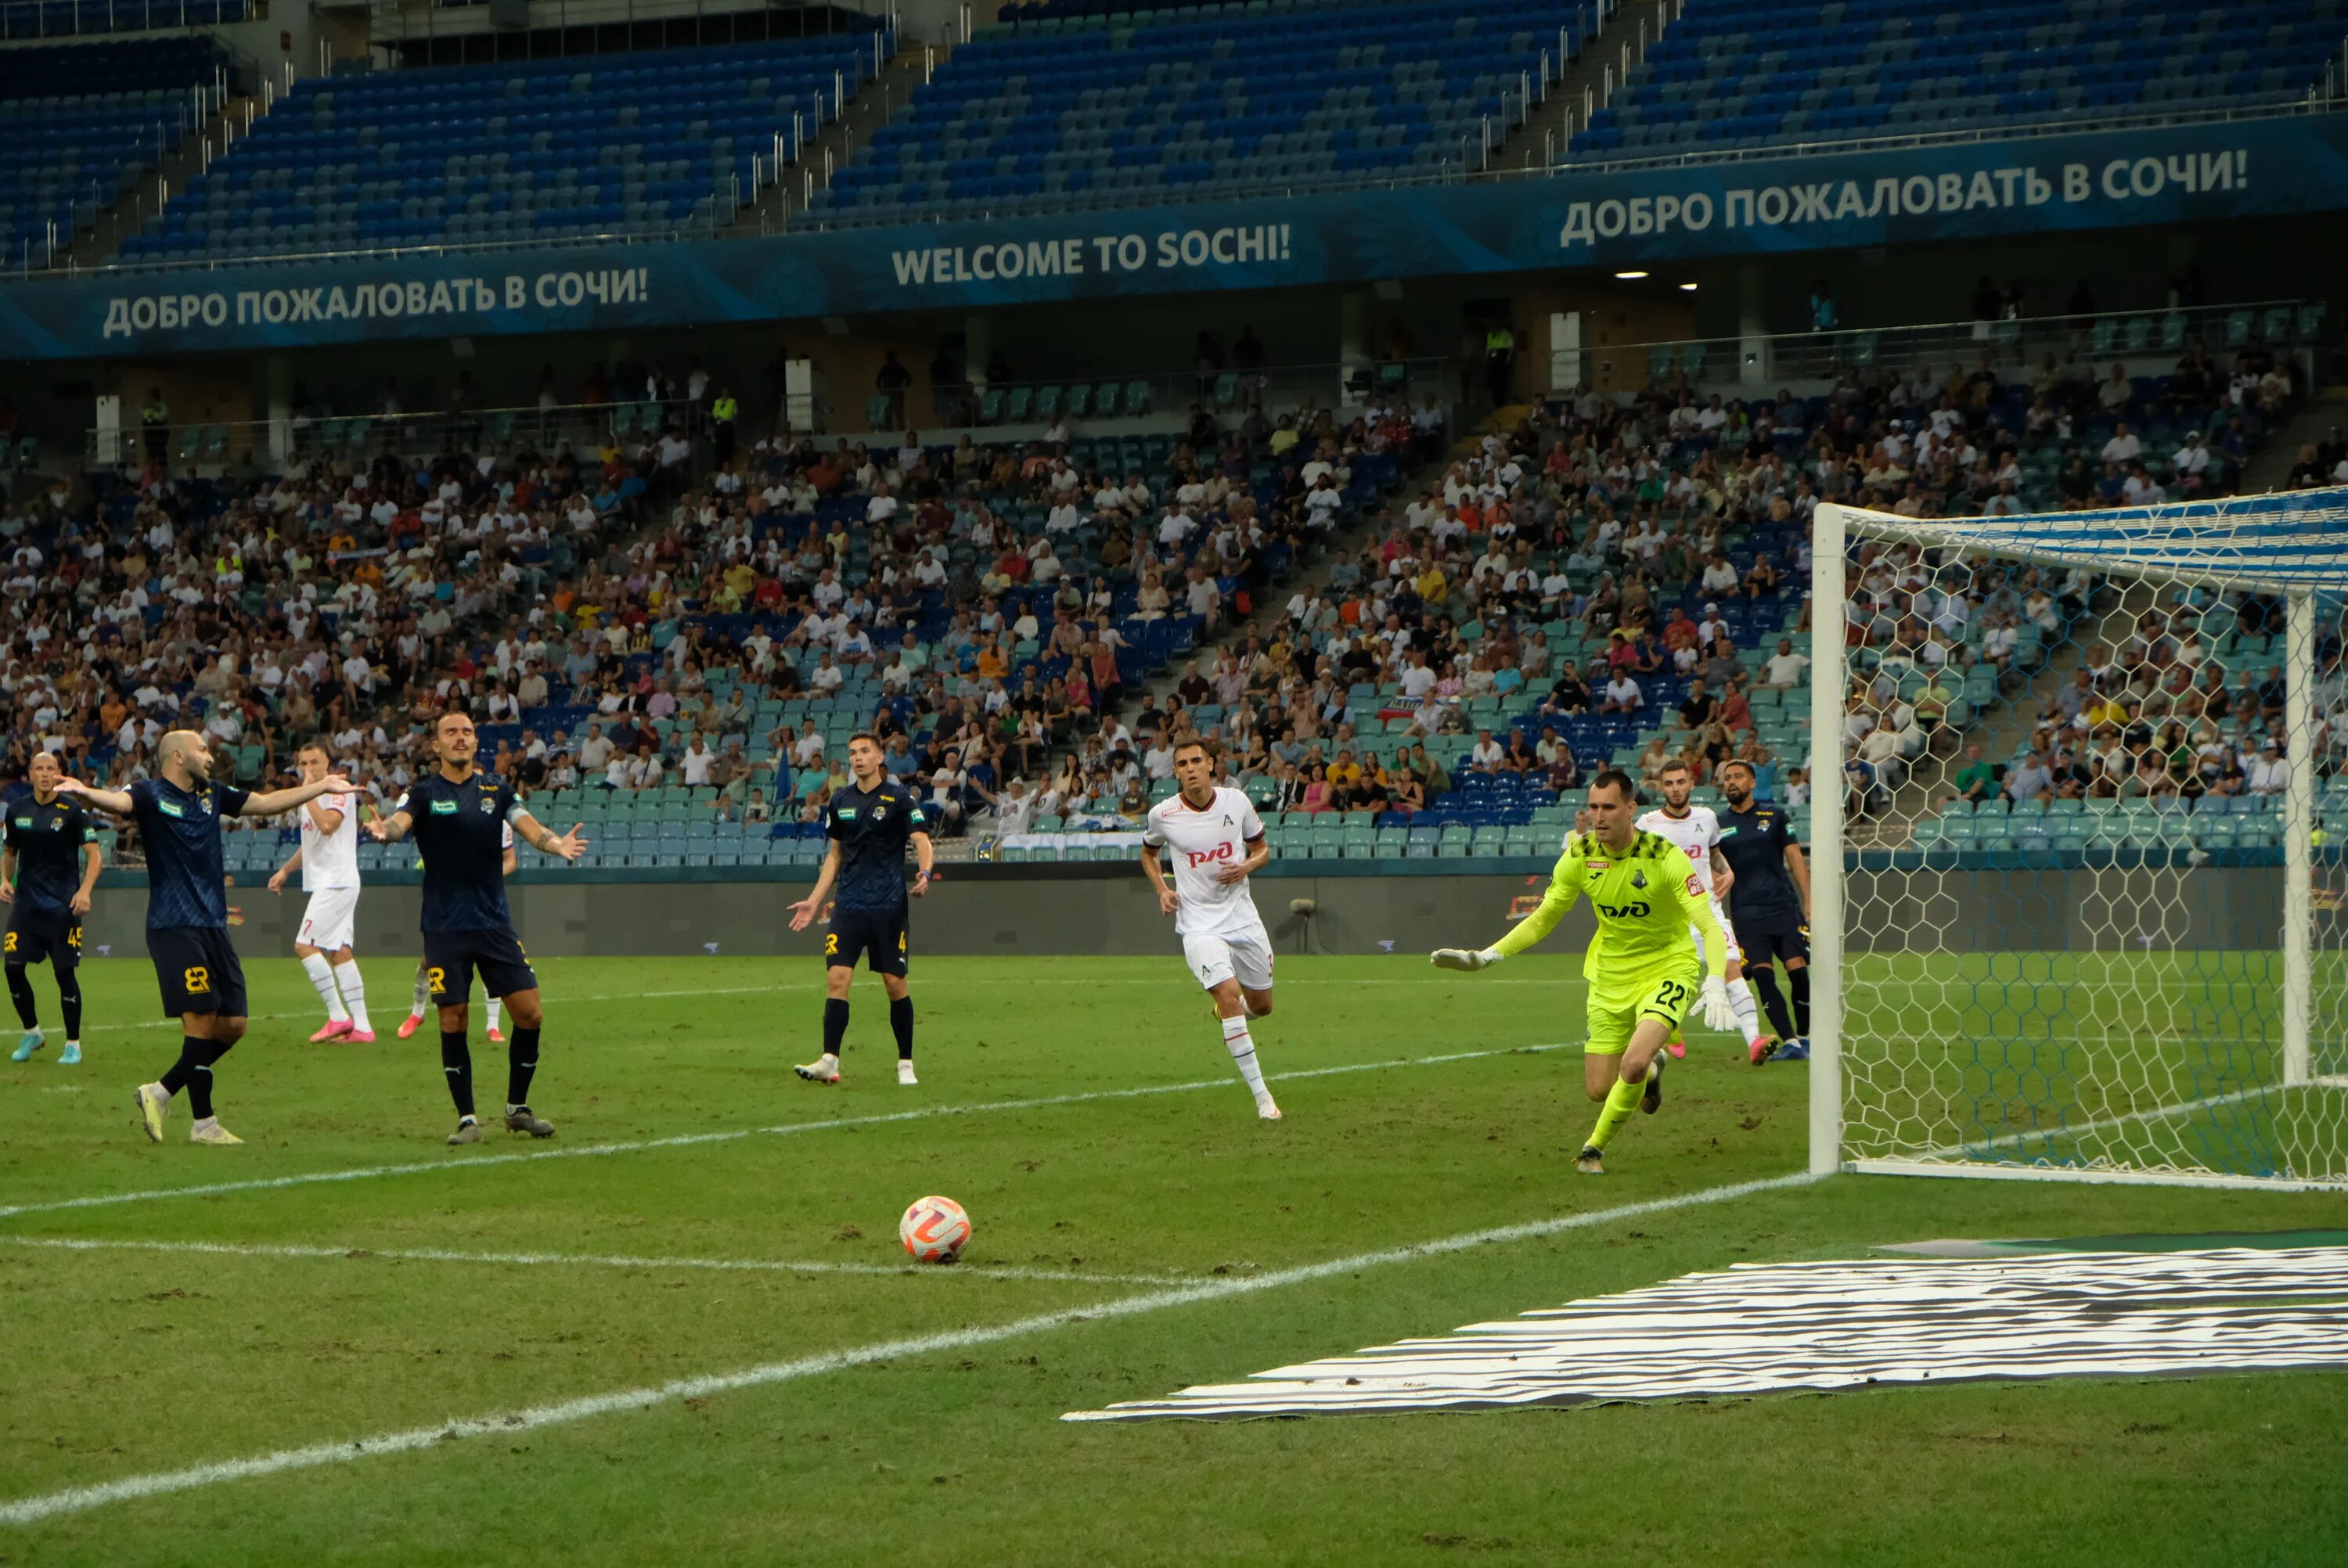
[[[160,777],[129,789],[89,789],[59,779],[56,793],[139,824],[148,857],[148,955],[162,986],[162,1012],[178,1019],[178,1061],[153,1084],[139,1084],[139,1124],[162,1143],[171,1096],[188,1091],[190,1143],[244,1143],[211,1115],[211,1066],[244,1038],[244,965],[228,944],[228,894],[221,873],[221,819],[275,817],[324,793],[348,793],[329,775],[294,789],[247,793],[211,782],[211,746],[195,730],[171,730],[155,746]]]

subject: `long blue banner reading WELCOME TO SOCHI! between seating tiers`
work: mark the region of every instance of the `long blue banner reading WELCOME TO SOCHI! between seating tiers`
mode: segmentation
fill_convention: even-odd
[[[758,239],[0,286],[0,359],[789,322],[1937,244],[2348,207],[2348,113]]]

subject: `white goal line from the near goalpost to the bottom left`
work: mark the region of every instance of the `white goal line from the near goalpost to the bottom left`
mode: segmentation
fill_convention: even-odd
[[[1648,1214],[1667,1214],[1672,1209],[1695,1209],[1700,1204],[1719,1204],[1738,1197],[1752,1197],[1756,1192],[1799,1188],[1813,1181],[1817,1181],[1817,1176],[1810,1176],[1808,1171],[1799,1171],[1794,1176],[1770,1176],[1766,1181],[1740,1181],[1723,1188],[1684,1192],[1679,1197],[1655,1197],[1639,1204],[1620,1204],[1615,1209],[1587,1209],[1583,1214],[1564,1214],[1557,1218],[1529,1221],[1522,1225],[1496,1225],[1491,1230],[1470,1230],[1465,1235],[1442,1237],[1435,1242],[1413,1242],[1409,1246],[1390,1246],[1383,1251],[1357,1253],[1352,1258],[1331,1258],[1327,1263],[1305,1263],[1301,1268],[1284,1268],[1266,1275],[1249,1275],[1240,1279],[1212,1279],[1169,1291],[1151,1291],[1146,1296],[1125,1296],[1120,1300],[1106,1300],[1092,1307],[1038,1312],[1035,1317],[1021,1317],[1017,1322],[996,1324],[989,1329],[953,1329],[949,1333],[925,1333],[918,1338],[880,1340],[876,1345],[834,1350],[819,1357],[801,1357],[796,1361],[765,1361],[761,1366],[747,1366],[742,1371],[730,1371],[730,1373],[714,1373],[707,1378],[679,1378],[674,1383],[655,1383],[650,1387],[618,1390],[610,1394],[587,1394],[582,1399],[564,1399],[559,1404],[542,1404],[524,1411],[453,1418],[432,1427],[409,1427],[406,1432],[385,1432],[380,1437],[345,1437],[329,1444],[310,1444],[308,1448],[279,1448],[277,1453],[263,1453],[249,1460],[218,1460],[211,1465],[190,1465],[185,1469],[162,1469],[143,1476],[124,1476],[120,1481],[101,1481],[96,1486],[68,1486],[63,1491],[42,1493],[38,1498],[19,1498],[16,1502],[0,1502],[0,1523],[40,1523],[45,1519],[56,1519],[63,1514],[85,1514],[89,1509],[106,1507],[108,1502],[136,1502],[141,1498],[160,1498],[169,1493],[197,1491],[204,1486],[221,1486],[225,1481],[275,1476],[289,1469],[315,1469],[319,1465],[350,1465],[355,1460],[380,1458],[390,1453],[413,1453],[418,1448],[434,1448],[439,1444],[465,1437],[512,1437],[514,1432],[559,1427],[573,1420],[589,1420],[594,1415],[618,1415],[620,1411],[650,1411],[655,1406],[674,1404],[679,1399],[707,1399],[709,1394],[730,1394],[749,1387],[772,1387],[777,1383],[819,1378],[824,1373],[845,1371],[850,1366],[895,1361],[899,1357],[972,1350],[977,1345],[996,1345],[1000,1340],[1014,1340],[1028,1333],[1052,1333],[1059,1329],[1068,1329],[1073,1324],[1111,1322],[1120,1317],[1139,1317],[1143,1312],[1162,1312],[1167,1307],[1188,1307],[1207,1300],[1228,1300],[1233,1296],[1251,1296],[1256,1291],[1273,1291],[1289,1284],[1308,1284],[1313,1279],[1352,1275],[1364,1268],[1383,1268],[1390,1263],[1416,1263],[1421,1258],[1439,1258],[1444,1253],[1470,1251],[1475,1246],[1491,1246],[1500,1242],[1531,1242],[1540,1237],[1561,1235],[1566,1230],[1583,1230],[1590,1225],[1606,1225],[1613,1221],[1634,1221]]]

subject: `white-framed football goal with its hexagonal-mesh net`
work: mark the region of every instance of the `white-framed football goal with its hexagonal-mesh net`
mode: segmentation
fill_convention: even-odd
[[[2343,592],[2348,491],[1817,509],[1813,1169],[2348,1183]]]

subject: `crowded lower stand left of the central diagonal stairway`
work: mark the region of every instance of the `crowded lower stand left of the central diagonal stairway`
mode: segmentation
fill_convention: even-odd
[[[1108,768],[1120,692],[1397,474],[1376,432],[1310,411],[1280,434],[1322,432],[1336,505],[1305,505],[1261,413],[1197,448],[765,441],[695,474],[702,413],[606,425],[580,458],[491,413],[432,455],[373,420],[258,484],[139,453],[89,507],[59,486],[0,519],[12,751],[124,782],[162,728],[202,725],[254,782],[326,732],[387,793],[465,699],[495,768],[592,824],[596,864],[733,866],[817,859],[834,763],[876,728],[958,833],[1057,749]],[[277,824],[230,833],[239,873],[284,852]]]

